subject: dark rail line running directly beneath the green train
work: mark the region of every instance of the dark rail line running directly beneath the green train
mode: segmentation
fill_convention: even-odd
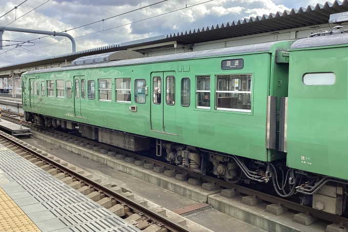
[[[3,116],[7,120],[11,120],[14,123],[19,122],[19,119],[15,119],[15,118],[9,116],[9,114],[16,115],[17,113],[14,113],[13,111],[9,111],[9,112],[3,111],[3,113],[5,113],[5,115],[3,114]],[[202,176],[202,175],[197,174],[197,173],[192,173],[192,172],[189,172],[189,171],[182,169],[178,166],[170,165],[170,164],[164,163],[162,161],[152,159],[152,158],[149,158],[146,156],[141,156],[139,154],[129,152],[129,151],[126,151],[123,149],[119,149],[119,148],[116,148],[113,146],[108,146],[105,144],[101,144],[99,142],[91,141],[87,138],[74,136],[71,134],[63,133],[63,132],[56,131],[56,130],[49,129],[49,128],[41,128],[40,126],[37,126],[35,124],[31,124],[28,122],[23,122],[23,123],[25,126],[34,127],[39,131],[45,130],[48,133],[57,134],[57,136],[66,136],[68,138],[71,138],[72,140],[77,140],[77,141],[81,141],[81,142],[84,142],[87,144],[91,144],[91,145],[96,146],[96,147],[101,147],[102,149],[105,149],[108,151],[114,151],[114,152],[117,152],[118,154],[124,154],[127,157],[134,157],[135,159],[138,159],[138,160],[144,160],[147,163],[152,163],[152,164],[164,167],[164,168],[169,169],[169,170],[176,170],[178,173],[188,174],[189,176],[191,176],[193,178],[198,178],[198,179],[201,179],[202,181],[215,183],[216,185],[219,185],[222,188],[234,189],[235,191],[240,192],[242,194],[249,195],[249,196],[255,196],[261,200],[264,200],[264,201],[267,201],[270,203],[274,203],[274,204],[282,205],[284,207],[289,208],[290,210],[293,210],[293,211],[296,211],[299,213],[310,214],[311,216],[314,216],[314,217],[319,218],[319,219],[323,219],[323,220],[326,220],[326,221],[329,221],[332,223],[342,224],[344,226],[348,226],[348,218],[345,218],[345,217],[341,217],[338,215],[333,215],[333,214],[329,214],[326,212],[322,212],[322,211],[316,210],[316,209],[309,207],[309,206],[306,206],[306,205],[301,205],[301,204],[298,204],[296,202],[292,202],[292,201],[287,200],[287,199],[275,197],[275,196],[272,196],[272,195],[269,195],[269,194],[266,194],[263,192],[252,190],[252,189],[243,187],[243,186],[238,185],[238,184],[229,183],[225,180],[221,180],[221,179],[214,178],[214,177],[207,176],[207,175]]]

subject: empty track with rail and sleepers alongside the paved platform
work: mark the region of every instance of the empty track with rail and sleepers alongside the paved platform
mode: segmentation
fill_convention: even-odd
[[[84,176],[83,174],[64,166],[63,164],[58,163],[50,157],[26,147],[18,141],[10,138],[5,133],[0,133],[0,143],[6,147],[11,148],[11,150],[16,152],[17,154],[20,154],[21,156],[28,157],[29,155],[32,158],[36,158],[37,161],[41,161],[43,163],[42,165],[49,165],[50,169],[56,169],[58,173],[63,173],[66,177],[70,176],[74,181],[78,181],[81,184],[81,186],[88,186],[92,190],[92,192],[97,192],[99,194],[103,194],[105,197],[111,198],[112,201],[116,201],[116,203],[124,206],[124,212],[130,213],[127,215],[130,216],[132,214],[138,214],[139,216],[141,216],[142,220],[133,223],[133,225],[135,225],[139,229],[145,229],[152,224],[156,224],[162,228],[166,228],[167,231],[191,231],[185,226],[175,223],[159,213],[151,211],[144,205],[130,198],[127,198],[126,196],[123,196],[120,193],[114,192],[110,188],[107,188],[104,185],[102,185],[101,183],[94,181]],[[162,229],[162,231],[166,230]]]

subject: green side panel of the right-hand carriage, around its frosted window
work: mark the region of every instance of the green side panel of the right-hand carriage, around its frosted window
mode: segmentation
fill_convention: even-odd
[[[288,166],[348,179],[348,47],[291,51]],[[305,85],[306,73],[333,72],[333,85]]]

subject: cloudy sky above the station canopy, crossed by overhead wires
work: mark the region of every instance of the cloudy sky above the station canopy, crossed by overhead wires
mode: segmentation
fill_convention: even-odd
[[[24,1],[0,0],[0,17]],[[268,15],[277,11],[284,12],[291,8],[307,8],[308,5],[315,6],[326,2],[324,0],[162,1],[27,0],[16,10],[1,17],[0,26],[67,31],[76,40],[76,51],[81,51],[257,15]],[[33,10],[34,8],[36,9]],[[129,11],[133,12],[127,13]],[[115,15],[119,16],[84,26]],[[17,48],[14,45],[4,47],[0,50],[0,66],[72,52],[71,42],[65,37],[45,37],[45,35],[5,31],[3,40],[31,40],[33,43],[25,43]],[[16,43],[18,42],[3,41],[3,45]]]

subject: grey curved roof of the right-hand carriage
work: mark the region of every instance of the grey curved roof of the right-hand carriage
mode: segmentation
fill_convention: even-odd
[[[348,33],[344,33],[299,39],[291,45],[290,49],[315,48],[322,46],[341,45],[347,43]]]

